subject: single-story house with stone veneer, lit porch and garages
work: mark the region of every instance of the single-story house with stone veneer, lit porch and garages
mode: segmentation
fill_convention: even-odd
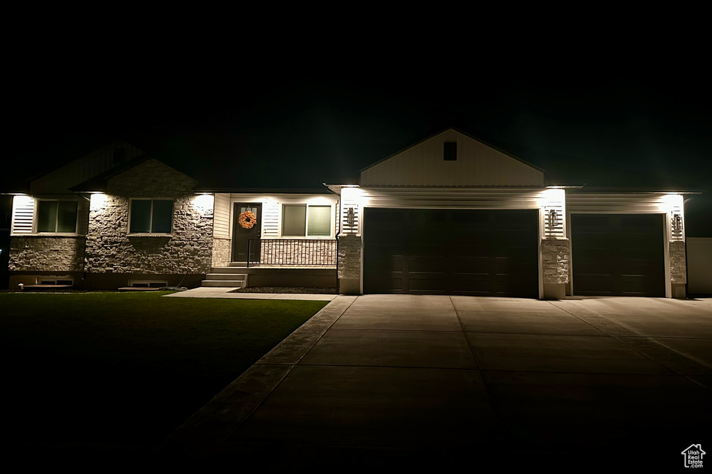
[[[550,186],[455,129],[320,190],[201,187],[117,142],[32,181],[13,207],[11,286],[685,295],[681,192]]]

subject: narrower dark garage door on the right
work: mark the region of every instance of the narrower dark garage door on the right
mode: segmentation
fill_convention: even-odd
[[[665,296],[662,214],[572,214],[574,295]]]

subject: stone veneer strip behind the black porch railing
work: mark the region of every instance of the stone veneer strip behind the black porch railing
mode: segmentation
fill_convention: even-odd
[[[336,241],[261,241],[262,265],[336,265]]]

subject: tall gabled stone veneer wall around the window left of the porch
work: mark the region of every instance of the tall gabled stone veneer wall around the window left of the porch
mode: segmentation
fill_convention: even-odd
[[[196,204],[196,181],[155,159],[112,177],[93,196],[86,270],[90,273],[203,274],[213,258],[213,209]],[[170,236],[128,234],[130,198],[173,198]],[[96,199],[96,201],[94,201]]]

